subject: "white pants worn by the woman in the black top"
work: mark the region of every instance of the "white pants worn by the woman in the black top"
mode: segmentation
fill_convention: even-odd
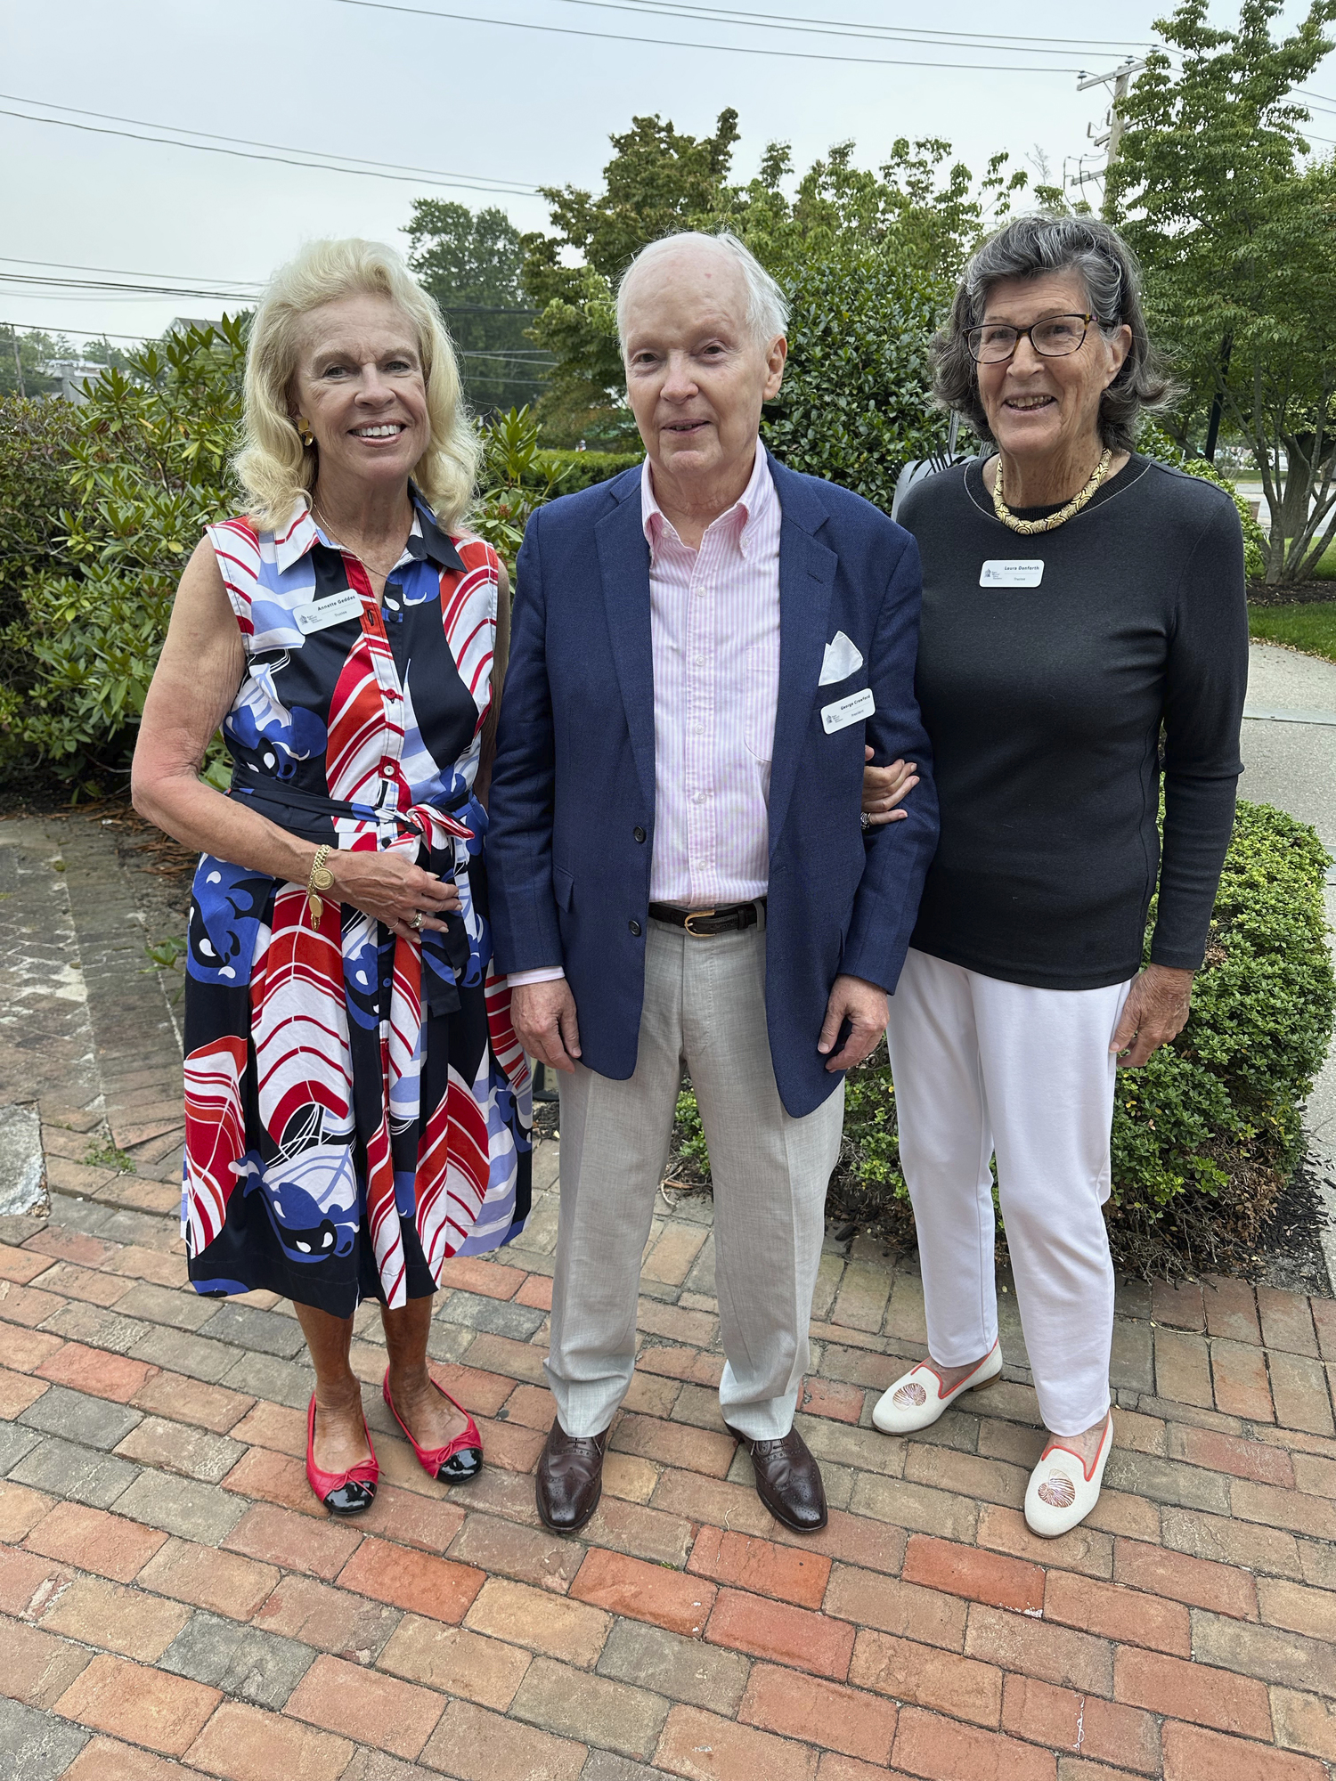
[[[998,1338],[996,1154],[1021,1327],[1055,1435],[1081,1434],[1108,1411],[1108,1042],[1129,987],[1030,988],[910,949],[891,997],[900,1161],[919,1232],[928,1348],[941,1366],[965,1366]]]

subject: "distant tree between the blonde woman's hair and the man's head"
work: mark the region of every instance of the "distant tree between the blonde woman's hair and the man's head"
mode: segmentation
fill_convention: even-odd
[[[419,198],[404,233],[408,264],[449,324],[472,406],[495,411],[538,401],[550,358],[529,338],[524,249],[506,212]]]

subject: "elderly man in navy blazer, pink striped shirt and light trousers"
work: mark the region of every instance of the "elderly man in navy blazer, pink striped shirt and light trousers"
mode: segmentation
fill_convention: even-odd
[[[793,1414],[843,1072],[882,1035],[937,837],[914,703],[914,541],[759,443],[787,344],[730,235],[648,246],[618,294],[645,463],[529,522],[492,780],[497,960],[561,1078],[538,1464],[549,1528],[599,1505],[682,1065],[714,1181],[725,1427],[786,1526],[825,1526]],[[925,773],[860,826],[864,739]]]

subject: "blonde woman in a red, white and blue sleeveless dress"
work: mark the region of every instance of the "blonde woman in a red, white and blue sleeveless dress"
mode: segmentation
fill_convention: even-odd
[[[529,1081],[492,974],[481,800],[508,634],[461,533],[477,459],[435,305],[387,248],[315,242],[246,363],[248,513],[207,527],[144,705],[135,807],[200,848],[185,990],[189,1272],[281,1293],[315,1366],[306,1476],[376,1492],[353,1313],[426,1471],[477,1473],[428,1371],[442,1263],[529,1209]],[[223,727],[232,789],[200,778]]]

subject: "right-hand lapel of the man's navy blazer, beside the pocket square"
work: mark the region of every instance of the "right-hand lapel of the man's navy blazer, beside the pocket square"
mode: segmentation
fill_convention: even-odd
[[[770,851],[784,830],[798,757],[812,716],[827,645],[827,614],[835,581],[835,552],[819,543],[807,524],[816,515],[805,500],[791,499],[807,490],[775,467],[784,518],[780,522],[780,684],[775,707],[775,750],[770,764]],[[796,509],[796,511],[794,511]]]

